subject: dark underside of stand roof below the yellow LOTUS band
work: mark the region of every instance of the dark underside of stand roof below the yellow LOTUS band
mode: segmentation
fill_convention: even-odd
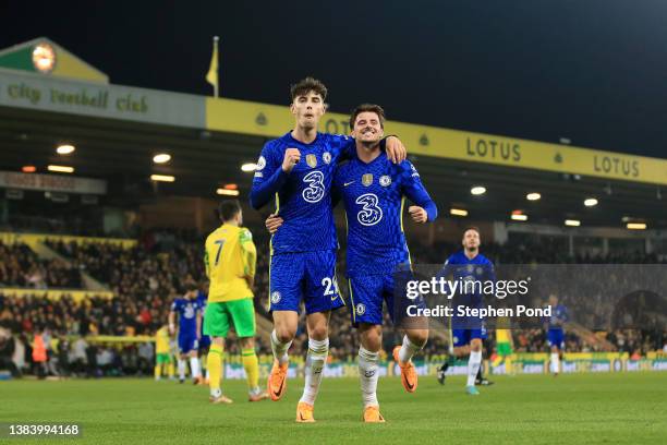
[[[77,151],[68,158],[58,155],[54,148],[61,141],[75,143]],[[177,178],[173,183],[159,184],[165,193],[214,197],[217,187],[238,183],[243,196],[252,175],[242,172],[241,165],[255,160],[265,141],[202,129],[0,107],[2,169],[19,171],[24,165],[34,165],[44,171],[49,164],[65,164],[75,167],[77,176],[108,179],[111,195],[141,200],[154,196],[148,180],[151,173]],[[168,153],[172,160],[154,165],[151,158],[157,153]],[[413,159],[442,215],[457,207],[468,209],[471,218],[506,220],[511,211],[523,209],[533,222],[561,224],[574,218],[586,226],[617,227],[623,216],[630,216],[647,219],[652,228],[667,226],[665,201],[659,199],[657,185],[419,155]],[[473,196],[473,185],[483,185],[487,192]],[[542,199],[527,201],[531,192],[541,193]],[[599,204],[587,208],[583,201],[591,196]]]

